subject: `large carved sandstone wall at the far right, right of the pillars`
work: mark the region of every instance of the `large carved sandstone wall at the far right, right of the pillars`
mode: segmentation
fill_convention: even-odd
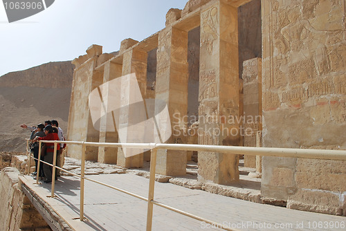
[[[346,149],[345,0],[262,4],[262,145]],[[266,157],[262,196],[345,214],[345,164]]]

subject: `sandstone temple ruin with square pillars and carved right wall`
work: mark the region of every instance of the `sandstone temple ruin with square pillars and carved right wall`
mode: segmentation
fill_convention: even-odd
[[[116,55],[92,45],[73,60],[68,140],[119,142],[96,130],[88,98],[135,73],[143,99],[167,104],[167,143],[346,149],[345,0],[190,0],[163,30],[125,39]],[[130,95],[128,95],[130,97]],[[68,156],[80,158],[79,146]],[[86,159],[142,167],[149,151],[88,147]],[[191,151],[161,150],[156,174],[186,172]],[[346,216],[346,163],[244,156],[262,174],[264,202]],[[198,181],[239,180],[239,155],[198,153]]]

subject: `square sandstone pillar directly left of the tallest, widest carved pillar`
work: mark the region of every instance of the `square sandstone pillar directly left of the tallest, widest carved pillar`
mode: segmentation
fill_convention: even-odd
[[[164,100],[170,112],[172,137],[167,143],[184,143],[181,131],[188,110],[188,33],[167,27],[158,35],[156,99]],[[180,133],[180,134],[179,134]],[[156,173],[186,174],[186,151],[158,150]]]

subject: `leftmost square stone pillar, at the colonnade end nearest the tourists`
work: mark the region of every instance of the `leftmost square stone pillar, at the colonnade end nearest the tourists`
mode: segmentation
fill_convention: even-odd
[[[75,71],[71,93],[69,111],[68,140],[98,142],[99,131],[93,128],[91,121],[88,97],[89,93],[103,82],[103,76],[95,71],[98,57],[102,55],[102,46],[90,46],[84,55],[73,60]],[[82,147],[78,145],[68,146],[68,156],[81,158]],[[86,160],[97,160],[97,147],[87,147]]]

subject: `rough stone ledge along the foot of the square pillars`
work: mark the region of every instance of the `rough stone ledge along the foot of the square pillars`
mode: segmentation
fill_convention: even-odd
[[[255,172],[255,169],[243,167],[244,160],[240,160],[239,173],[240,181],[233,183],[232,185],[217,185],[214,183],[200,183],[197,181],[197,163],[189,161],[187,165],[185,176],[162,176],[156,174],[156,181],[161,183],[172,183],[183,187],[188,187],[193,190],[204,190],[206,192],[212,192],[224,196],[231,196],[234,198],[241,198],[246,201],[253,201],[261,203],[261,179],[249,177],[249,173]],[[85,174],[97,175],[97,174],[136,174],[149,178],[149,165],[150,163],[145,161],[144,165],[140,169],[126,169],[117,165],[109,165],[102,163],[95,163],[92,161],[86,161]],[[74,158],[65,158],[64,169],[69,170],[74,174],[80,174],[80,160]],[[71,176],[69,174],[64,174]]]

